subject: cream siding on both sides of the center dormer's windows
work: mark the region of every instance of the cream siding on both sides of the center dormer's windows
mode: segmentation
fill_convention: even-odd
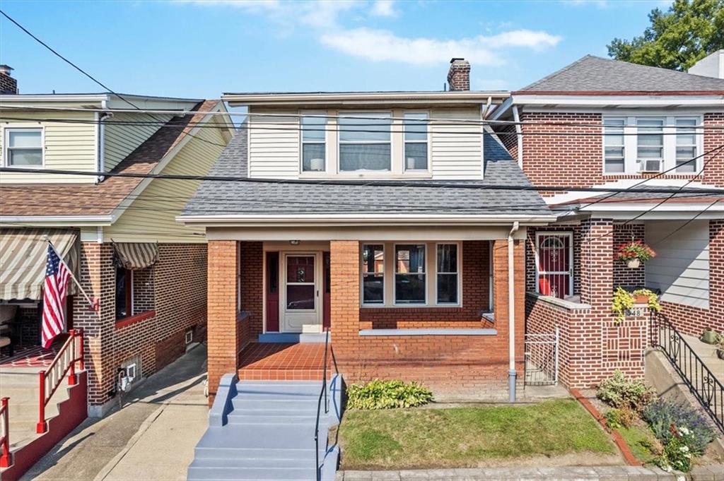
[[[318,111],[316,109],[310,109]],[[365,109],[360,109],[363,111]],[[390,112],[392,109],[380,109]],[[298,178],[300,171],[300,132],[296,117],[276,116],[279,114],[297,114],[295,110],[264,110],[255,108],[254,114],[275,116],[251,116],[249,130],[249,175],[252,177],[270,177],[276,179]],[[329,110],[328,114],[344,114],[345,111]],[[431,119],[480,120],[478,108],[434,108],[429,110]],[[403,110],[395,109],[400,116]],[[328,128],[334,129],[334,121],[329,120]],[[402,126],[395,122],[392,130],[397,132]],[[429,149],[431,153],[431,174],[433,179],[480,179],[482,163],[482,129],[479,124],[431,125]],[[390,176],[404,178],[402,174],[404,154],[403,135],[393,132],[392,168]],[[464,132],[464,133],[461,133]],[[322,176],[334,175],[337,171],[337,132],[327,135],[327,172]],[[397,173],[395,174],[395,169]],[[309,176],[310,174],[305,174]],[[345,174],[340,174],[345,175]],[[356,174],[346,174],[357,176]],[[376,177],[384,173],[370,174]],[[419,175],[419,173],[416,173]]]

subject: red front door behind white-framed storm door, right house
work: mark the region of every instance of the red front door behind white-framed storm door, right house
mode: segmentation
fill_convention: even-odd
[[[573,239],[570,233],[537,234],[538,291],[563,299],[573,294]]]

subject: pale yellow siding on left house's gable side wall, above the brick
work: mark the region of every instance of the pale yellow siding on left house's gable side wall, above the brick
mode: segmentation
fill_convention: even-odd
[[[222,145],[227,142],[219,129],[200,129],[194,137]],[[221,152],[221,147],[192,138],[161,173],[208,174]],[[175,220],[200,183],[153,179],[118,220],[104,228],[104,239],[117,242],[206,242],[203,229],[192,229]]]

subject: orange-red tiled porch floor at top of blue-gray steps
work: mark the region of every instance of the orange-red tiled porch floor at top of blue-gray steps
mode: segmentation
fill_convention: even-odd
[[[319,380],[324,344],[255,342],[239,354],[239,366],[240,380]]]

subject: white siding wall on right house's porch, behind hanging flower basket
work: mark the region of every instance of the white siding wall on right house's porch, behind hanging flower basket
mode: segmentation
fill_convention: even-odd
[[[683,222],[646,223],[646,242],[657,252],[646,262],[646,285],[660,289],[664,301],[708,309],[709,221],[675,231]]]

